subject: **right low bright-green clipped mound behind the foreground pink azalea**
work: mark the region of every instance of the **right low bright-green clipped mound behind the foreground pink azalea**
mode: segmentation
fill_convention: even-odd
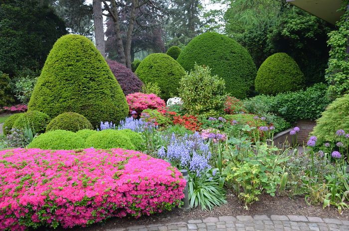
[[[86,147],[101,149],[124,148],[135,150],[136,147],[128,136],[118,130],[106,129],[97,132],[86,139]]]

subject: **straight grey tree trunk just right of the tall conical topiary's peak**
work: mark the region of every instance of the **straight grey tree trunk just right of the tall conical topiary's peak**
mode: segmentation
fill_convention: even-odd
[[[105,58],[104,27],[101,0],[93,0],[93,21],[95,23],[96,47]]]

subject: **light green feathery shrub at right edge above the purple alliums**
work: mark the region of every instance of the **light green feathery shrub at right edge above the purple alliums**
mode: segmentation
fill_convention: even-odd
[[[336,141],[336,131],[349,131],[349,94],[333,101],[317,120],[312,134],[319,143]]]

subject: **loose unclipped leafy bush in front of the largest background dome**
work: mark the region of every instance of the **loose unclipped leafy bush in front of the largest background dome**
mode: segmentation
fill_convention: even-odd
[[[180,80],[179,97],[189,114],[214,115],[224,108],[225,84],[217,75],[211,75],[209,67],[195,65]]]

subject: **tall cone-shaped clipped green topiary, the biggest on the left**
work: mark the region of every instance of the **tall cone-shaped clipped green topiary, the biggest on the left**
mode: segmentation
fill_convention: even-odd
[[[85,116],[95,127],[128,114],[122,89],[94,44],[76,34],[64,35],[47,56],[28,110],[55,117],[63,112]]]

